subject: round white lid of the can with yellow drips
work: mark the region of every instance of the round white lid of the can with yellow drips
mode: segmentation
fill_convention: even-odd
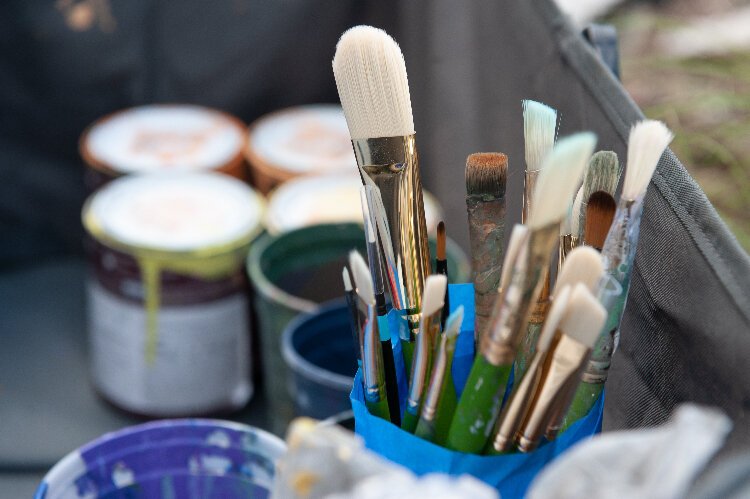
[[[131,248],[234,249],[260,231],[265,201],[218,173],[121,177],[93,194],[83,224],[95,238]]]

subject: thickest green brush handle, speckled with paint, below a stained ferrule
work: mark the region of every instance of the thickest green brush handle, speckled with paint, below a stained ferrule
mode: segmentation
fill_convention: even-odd
[[[474,359],[448,430],[447,448],[470,454],[484,450],[512,369],[511,364],[494,366],[482,355]]]

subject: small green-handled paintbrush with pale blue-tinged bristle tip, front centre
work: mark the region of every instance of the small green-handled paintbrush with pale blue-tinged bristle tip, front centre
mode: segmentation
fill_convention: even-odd
[[[456,410],[456,387],[453,384],[451,368],[456,340],[464,319],[464,307],[448,316],[446,327],[440,335],[430,384],[422,404],[422,414],[414,434],[424,440],[443,445],[448,436],[453,412]]]

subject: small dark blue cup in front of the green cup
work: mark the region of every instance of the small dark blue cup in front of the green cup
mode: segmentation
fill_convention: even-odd
[[[286,389],[298,416],[326,419],[350,408],[357,356],[349,322],[349,308],[336,300],[298,316],[284,330]]]

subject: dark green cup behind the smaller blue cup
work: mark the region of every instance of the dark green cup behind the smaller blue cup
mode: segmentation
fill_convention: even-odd
[[[430,245],[434,254],[434,241]],[[294,401],[284,387],[291,375],[282,359],[281,333],[298,314],[313,312],[320,303],[341,296],[341,269],[352,249],[365,253],[364,230],[354,223],[266,234],[250,250],[248,273],[258,316],[263,386],[273,431],[279,435],[294,416]],[[446,252],[451,281],[466,281],[466,255],[451,240]]]

